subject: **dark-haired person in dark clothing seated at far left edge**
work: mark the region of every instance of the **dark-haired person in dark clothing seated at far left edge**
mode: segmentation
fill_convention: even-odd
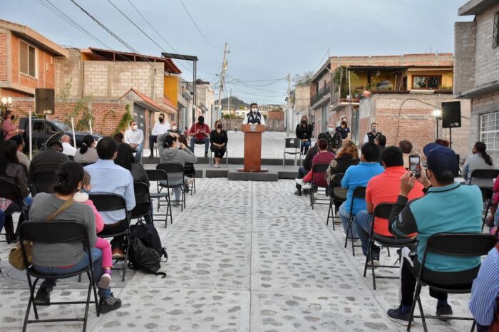
[[[29,197],[28,177],[26,169],[23,165],[19,164],[17,159],[17,144],[13,140],[4,140],[0,144],[0,180],[11,182],[17,188],[20,197],[23,199],[23,206],[20,207],[17,202],[12,202],[9,199],[0,198],[0,209],[5,214],[5,237],[7,242],[14,242],[16,240],[17,232],[14,232],[14,222],[12,221],[12,214],[21,212],[21,209],[29,219],[29,205],[31,204],[31,197]],[[23,216],[19,217],[19,224],[24,222]]]

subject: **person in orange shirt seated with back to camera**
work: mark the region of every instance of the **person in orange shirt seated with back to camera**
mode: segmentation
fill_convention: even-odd
[[[368,254],[369,232],[371,232],[371,222],[373,221],[374,208],[380,203],[395,203],[400,191],[401,177],[407,170],[403,167],[403,153],[398,147],[386,147],[381,153],[381,162],[385,171],[369,180],[366,187],[366,210],[357,212],[352,227],[354,232],[359,234],[364,256]],[[416,182],[408,199],[423,197],[423,185]],[[376,218],[374,232],[384,237],[393,237],[388,230],[388,220]],[[416,234],[411,234],[416,235]],[[371,264],[379,266],[379,247],[373,244],[373,261]]]

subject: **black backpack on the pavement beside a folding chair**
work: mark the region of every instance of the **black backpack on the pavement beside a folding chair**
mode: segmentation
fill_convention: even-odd
[[[166,249],[161,246],[160,236],[153,225],[138,222],[130,226],[128,267],[165,278],[165,272],[158,272],[161,263],[168,261]],[[165,257],[164,261],[162,257]]]

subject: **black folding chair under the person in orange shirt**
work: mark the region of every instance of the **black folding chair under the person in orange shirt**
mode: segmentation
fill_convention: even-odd
[[[364,264],[364,278],[366,277],[367,272],[367,263],[371,260],[371,274],[373,277],[373,289],[376,291],[376,278],[379,279],[398,279],[398,276],[376,276],[374,273],[374,264],[373,264],[373,245],[377,244],[379,247],[385,247],[389,250],[389,248],[403,248],[408,246],[409,244],[415,244],[416,238],[411,239],[410,237],[385,237],[381,234],[377,234],[374,232],[374,224],[376,223],[376,218],[389,219],[391,208],[393,207],[393,203],[380,203],[376,205],[373,213],[373,221],[371,222],[371,231],[369,232],[369,249],[366,256],[366,264]],[[390,251],[389,251],[390,252]],[[390,256],[390,254],[389,254]],[[400,269],[400,266],[396,265],[380,265],[378,267],[384,267],[389,269]]]

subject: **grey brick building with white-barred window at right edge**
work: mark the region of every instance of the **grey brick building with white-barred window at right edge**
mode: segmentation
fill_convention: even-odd
[[[468,153],[480,140],[499,165],[499,2],[468,1],[458,14],[475,16],[454,27],[454,93],[471,99]]]

